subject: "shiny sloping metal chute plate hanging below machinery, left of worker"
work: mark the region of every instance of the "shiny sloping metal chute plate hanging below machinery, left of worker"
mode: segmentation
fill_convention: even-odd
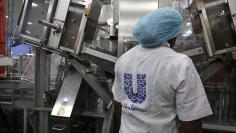
[[[81,82],[82,77],[75,69],[70,68],[69,72],[65,76],[51,115],[62,117],[71,116]]]

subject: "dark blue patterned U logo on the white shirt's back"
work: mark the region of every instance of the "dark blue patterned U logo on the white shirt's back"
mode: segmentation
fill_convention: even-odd
[[[133,75],[124,74],[124,89],[133,103],[143,103],[146,99],[146,74],[137,74],[137,93],[133,91]]]

